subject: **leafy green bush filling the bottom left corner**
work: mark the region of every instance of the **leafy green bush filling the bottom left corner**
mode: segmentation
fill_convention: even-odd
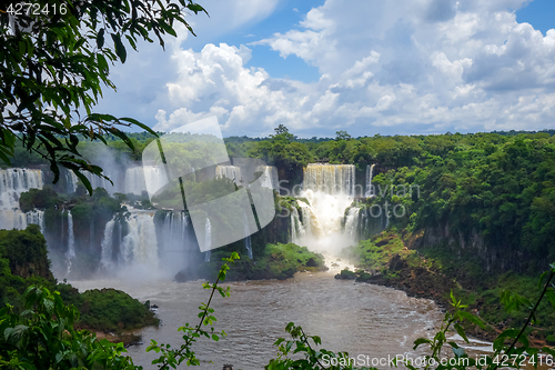
[[[74,330],[74,307],[63,304],[59,292],[29,287],[26,310],[0,310],[0,367],[3,369],[134,369],[123,357],[123,343],[97,340],[85,330]]]

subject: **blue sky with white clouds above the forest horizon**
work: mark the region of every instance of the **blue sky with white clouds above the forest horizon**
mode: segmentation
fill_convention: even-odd
[[[97,111],[224,137],[555,128],[555,0],[199,0],[141,42]]]

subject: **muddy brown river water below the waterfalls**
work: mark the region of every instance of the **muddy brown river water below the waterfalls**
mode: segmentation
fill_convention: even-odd
[[[284,337],[287,322],[302,326],[309,334],[322,338],[322,348],[347,351],[359,366],[395,356],[418,357],[412,350],[418,337],[431,337],[440,328],[443,313],[431,300],[407,297],[391,288],[335,280],[337,269],[327,272],[300,272],[292,279],[224,283],[231,297],[215,294],[212,307],[218,318],[216,330],[228,333],[214,342],[202,338],[193,349],[201,360],[200,369],[263,369],[276,357],[273,342]],[[81,291],[92,288],[117,288],[132,297],[157,304],[159,328],[139,331],[143,344],[128,349],[135,364],[154,369],[154,352],[145,352],[150,339],[159,343],[182,343],[176,330],[185,322],[196,324],[199,304],[206,302],[210,291],[200,281],[176,283],[169,280],[89,280],[72,281]],[[461,341],[457,340],[461,344]],[[475,349],[487,349],[485,342],[473,342]],[[362,361],[362,362],[361,362]],[[377,368],[387,369],[389,366]]]

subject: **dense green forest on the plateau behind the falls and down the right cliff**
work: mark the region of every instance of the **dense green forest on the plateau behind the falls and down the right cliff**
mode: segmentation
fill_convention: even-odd
[[[302,182],[303,168],[312,162],[354,164],[359,189],[367,167],[375,164],[372,202],[403,206],[403,214],[391,219],[393,227],[427,230],[428,237],[432,231],[436,237],[456,236],[463,243],[478,238],[487,247],[481,251],[485,270],[533,276],[555,259],[554,132],[355,139],[339,131],[335,139],[299,139],[280,126],[269,138],[231,137],[225,144],[231,158],[260,158],[278,167],[282,194]],[[147,132],[130,137],[134,152],[117,137],[107,137],[117,161],[140,161],[154,139]],[[94,158],[102,143],[80,146],[85,157]],[[13,167],[44,163],[18,149]]]

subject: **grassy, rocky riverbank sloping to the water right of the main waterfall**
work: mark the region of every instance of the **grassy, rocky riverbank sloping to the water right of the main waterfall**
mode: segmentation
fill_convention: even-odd
[[[534,302],[539,292],[537,279],[514,272],[487,273],[472,256],[452,256],[441,246],[413,249],[418,234],[398,234],[387,231],[364,240],[344,251],[359,269],[356,281],[403,290],[411,297],[434,300],[451,309],[450,294],[467,304],[486,328],[465,323],[466,332],[492,341],[507,328],[521,328],[527,311],[507,312],[501,303],[501,293],[511,290]],[[345,276],[346,277],[346,276]],[[351,278],[353,276],[351,274]],[[531,326],[527,334],[535,347],[553,346],[555,317],[549,303],[543,301],[537,311],[539,326]]]

